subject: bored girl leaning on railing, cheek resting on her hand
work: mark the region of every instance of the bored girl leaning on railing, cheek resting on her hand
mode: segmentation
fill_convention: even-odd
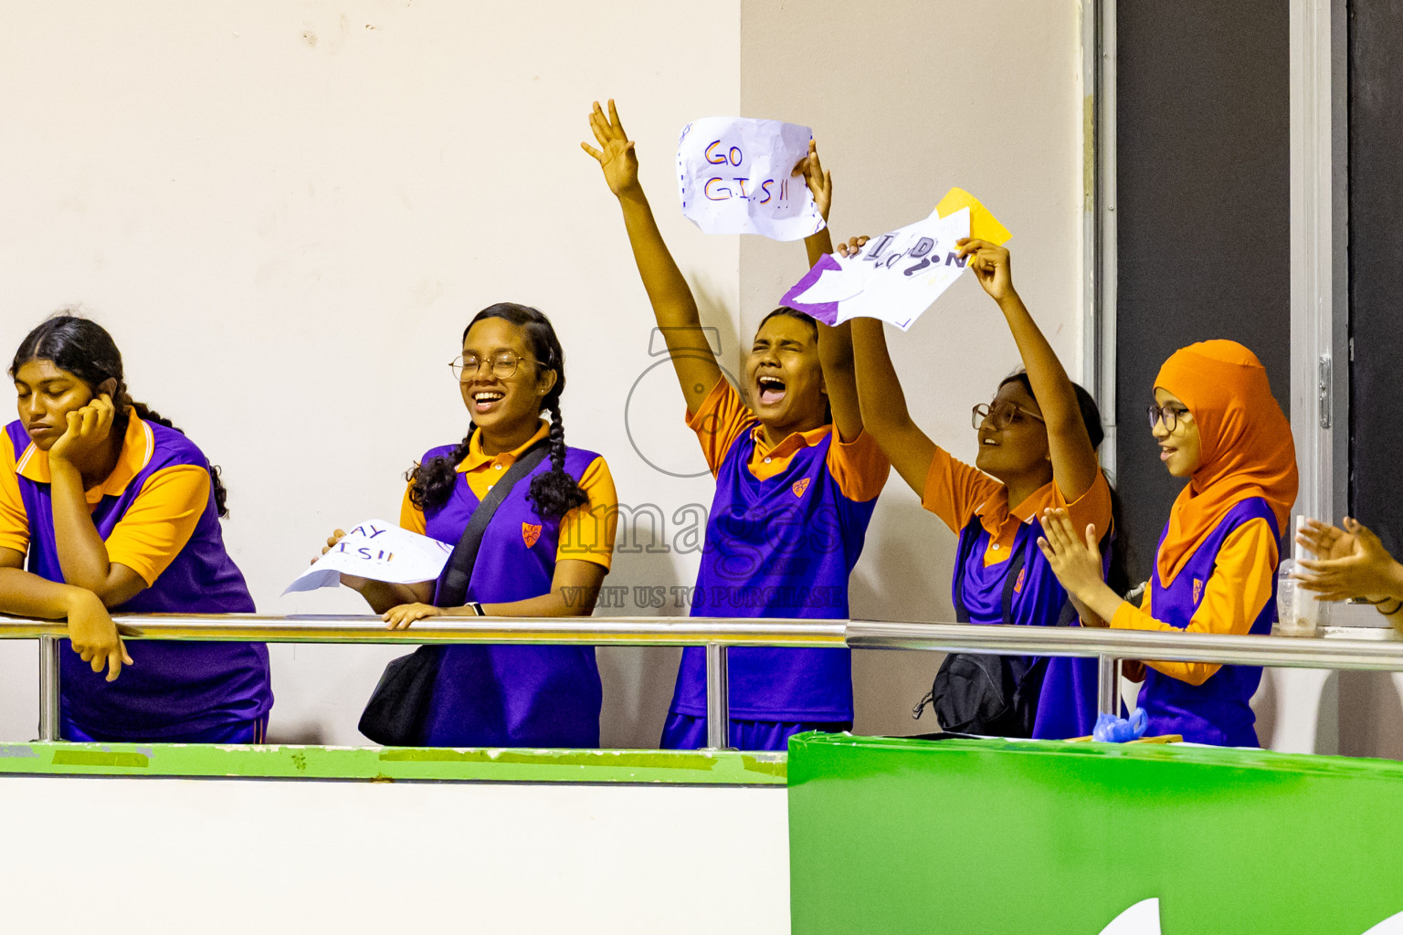
[[[217,468],[132,401],[122,355],[93,321],[49,318],[10,376],[20,419],[0,439],[0,611],[69,621],[81,662],[63,653],[60,736],[261,743],[262,643],[125,645],[107,613],[254,610],[224,551]]]

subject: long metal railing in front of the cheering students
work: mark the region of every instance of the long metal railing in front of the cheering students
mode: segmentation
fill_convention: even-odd
[[[922,649],[1019,656],[1083,656],[1099,662],[1099,709],[1118,711],[1120,660],[1204,662],[1294,669],[1403,671],[1393,631],[1327,627],[1317,636],[1225,636],[1190,632],[904,624],[860,620],[706,617],[432,618],[386,629],[373,615],[264,617],[119,615],[123,639],[311,643],[586,643],[595,646],[706,646],[707,746],[730,740],[727,650],[731,646]],[[0,639],[39,641],[39,740],[58,740],[59,641],[63,622],[0,617]]]

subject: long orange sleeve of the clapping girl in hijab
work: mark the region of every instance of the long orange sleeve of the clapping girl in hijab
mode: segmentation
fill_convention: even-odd
[[[1194,634],[1247,634],[1261,610],[1271,600],[1271,579],[1277,572],[1277,537],[1264,519],[1254,519],[1232,531],[1218,551],[1214,573],[1204,582],[1204,596],[1184,631]],[[1159,573],[1159,572],[1153,572]],[[1156,620],[1150,608],[1150,589],[1145,589],[1141,607],[1122,603],[1111,618],[1117,629],[1157,629],[1184,632]],[[1191,685],[1201,685],[1218,671],[1218,663],[1150,662],[1150,669]]]

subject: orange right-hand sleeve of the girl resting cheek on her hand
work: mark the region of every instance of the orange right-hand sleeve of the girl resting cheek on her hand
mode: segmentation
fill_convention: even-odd
[[[154,585],[195,534],[209,496],[209,471],[196,464],[156,471],[107,537],[107,561]]]

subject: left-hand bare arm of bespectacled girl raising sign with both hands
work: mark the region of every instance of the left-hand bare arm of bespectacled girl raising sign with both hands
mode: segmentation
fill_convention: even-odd
[[[897,369],[887,352],[882,322],[877,318],[853,318],[847,324],[852,327],[861,426],[877,440],[882,454],[916,496],[923,496],[926,475],[936,457],[936,443],[911,419],[906,395],[901,391]]]

